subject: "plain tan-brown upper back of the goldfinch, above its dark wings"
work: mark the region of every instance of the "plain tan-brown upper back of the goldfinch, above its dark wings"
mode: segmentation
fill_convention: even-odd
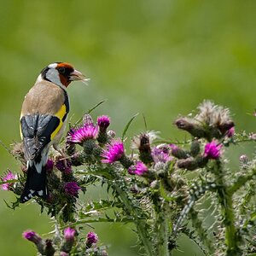
[[[54,115],[65,102],[64,91],[56,84],[42,81],[34,84],[25,96],[21,114],[42,113]]]

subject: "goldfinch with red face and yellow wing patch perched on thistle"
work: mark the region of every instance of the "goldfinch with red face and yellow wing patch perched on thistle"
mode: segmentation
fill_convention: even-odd
[[[47,199],[49,148],[58,148],[69,113],[67,86],[88,79],[67,62],[49,64],[25,96],[20,113],[20,137],[26,160],[26,183],[20,195],[25,203],[34,196]]]

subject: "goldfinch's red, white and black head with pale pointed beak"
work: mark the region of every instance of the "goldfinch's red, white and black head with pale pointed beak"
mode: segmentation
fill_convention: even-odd
[[[41,71],[38,79],[44,79],[61,87],[67,87],[72,81],[86,82],[88,79],[75,70],[74,67],[67,62],[55,62],[49,64]]]

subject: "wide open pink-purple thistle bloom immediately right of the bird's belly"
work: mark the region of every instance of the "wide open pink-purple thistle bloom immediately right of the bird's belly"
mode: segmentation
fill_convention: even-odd
[[[72,143],[84,143],[90,139],[96,139],[98,135],[99,127],[97,125],[89,124],[74,130],[71,134]]]

